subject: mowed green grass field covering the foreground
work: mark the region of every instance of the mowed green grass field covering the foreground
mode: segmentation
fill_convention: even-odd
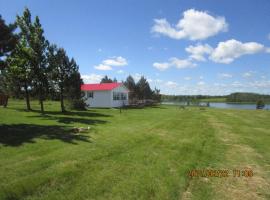
[[[270,199],[269,111],[24,107],[0,108],[1,200]],[[189,177],[193,169],[230,176]]]

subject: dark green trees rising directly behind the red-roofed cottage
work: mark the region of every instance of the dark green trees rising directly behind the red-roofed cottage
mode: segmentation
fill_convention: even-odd
[[[113,83],[117,82],[117,79],[110,79],[107,75],[104,76],[100,83]],[[153,100],[155,102],[160,102],[161,95],[160,90],[155,88],[151,89],[149,82],[144,76],[135,82],[135,79],[129,75],[123,84],[129,89],[129,100],[136,102],[137,100]]]

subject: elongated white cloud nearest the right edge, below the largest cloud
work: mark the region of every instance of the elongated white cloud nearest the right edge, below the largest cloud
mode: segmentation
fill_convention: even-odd
[[[210,59],[217,63],[229,64],[236,58],[246,54],[255,54],[265,51],[262,44],[256,42],[242,43],[231,39],[225,42],[220,42],[210,55]]]

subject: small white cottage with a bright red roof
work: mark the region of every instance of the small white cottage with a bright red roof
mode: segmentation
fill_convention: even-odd
[[[122,83],[81,85],[86,104],[90,107],[121,107],[128,105],[129,90]]]

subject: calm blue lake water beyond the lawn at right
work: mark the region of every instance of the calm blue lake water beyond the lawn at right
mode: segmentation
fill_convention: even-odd
[[[185,105],[185,102],[163,102],[167,105]],[[210,107],[213,108],[227,108],[227,109],[246,109],[256,110],[256,104],[240,104],[240,103],[210,103]],[[265,104],[264,109],[270,110],[270,104]]]

